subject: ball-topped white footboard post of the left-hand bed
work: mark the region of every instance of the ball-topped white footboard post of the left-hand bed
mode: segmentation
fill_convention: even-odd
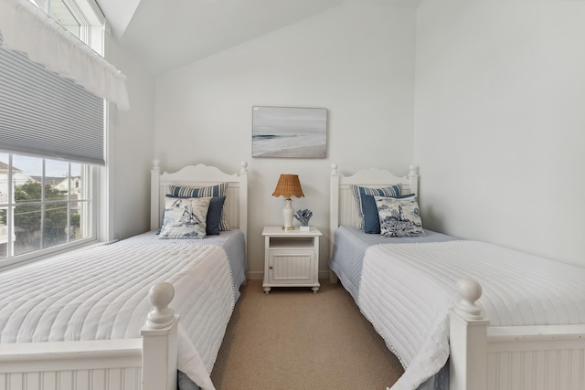
[[[142,329],[143,390],[176,390],[179,316],[168,307],[174,296],[175,288],[166,282],[149,292],[154,309]]]

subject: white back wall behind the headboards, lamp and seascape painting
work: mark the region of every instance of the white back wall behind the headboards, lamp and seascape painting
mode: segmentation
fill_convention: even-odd
[[[324,232],[329,172],[378,166],[407,174],[412,161],[415,10],[387,1],[348,1],[318,16],[230,48],[156,79],[155,154],[164,170],[187,163],[250,168],[250,278],[263,272],[265,225],[282,225],[279,174],[299,174],[311,225]],[[188,41],[186,41],[188,44]],[[253,105],[328,110],[326,159],[251,158]],[[324,276],[323,275],[323,276]]]

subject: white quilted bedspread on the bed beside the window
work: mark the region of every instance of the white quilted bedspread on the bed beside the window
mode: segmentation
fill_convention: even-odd
[[[234,291],[218,246],[103,246],[0,272],[0,342],[140,338],[154,283],[175,286],[179,370],[204,389]]]

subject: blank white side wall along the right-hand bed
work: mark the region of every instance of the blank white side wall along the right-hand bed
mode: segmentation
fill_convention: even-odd
[[[424,0],[417,17],[423,222],[585,265],[585,2]]]

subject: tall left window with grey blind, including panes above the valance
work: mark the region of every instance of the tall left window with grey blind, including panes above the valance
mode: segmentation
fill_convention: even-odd
[[[30,2],[102,53],[104,21],[93,0]],[[102,98],[0,48],[2,267],[97,239],[106,126]]]

